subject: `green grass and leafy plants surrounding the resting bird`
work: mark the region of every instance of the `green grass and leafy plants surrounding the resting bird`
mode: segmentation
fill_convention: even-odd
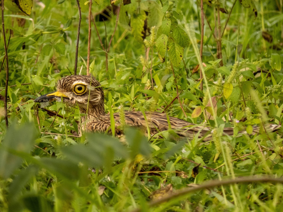
[[[127,3],[92,1],[89,39],[90,4],[80,1],[77,73],[87,74],[90,41],[89,73],[103,85],[107,113],[165,112],[215,127],[213,141],[127,128],[126,144],[72,137],[78,109],[40,108],[33,99],[74,73],[77,2],[34,1],[30,16],[5,8],[9,128],[1,30],[0,210],[280,211],[282,131],[263,126],[282,121],[282,0],[205,0],[204,15],[200,0]],[[237,136],[253,125],[260,133]],[[223,127],[234,127],[234,136]]]

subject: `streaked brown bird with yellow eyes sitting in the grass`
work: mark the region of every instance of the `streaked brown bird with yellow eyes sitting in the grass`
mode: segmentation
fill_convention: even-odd
[[[34,99],[34,102],[62,101],[70,105],[78,105],[81,116],[78,124],[78,134],[83,131],[98,131],[112,134],[110,114],[104,110],[104,91],[100,83],[92,76],[69,75],[57,81],[57,90]],[[125,111],[124,122],[127,126],[138,127],[148,134],[155,135],[160,131],[174,130],[179,137],[193,139],[196,135],[204,141],[211,140],[211,127],[200,126],[185,120],[167,116],[159,112]],[[115,135],[123,135],[119,113],[113,113]],[[280,125],[270,124],[269,131],[276,131]],[[253,131],[258,130],[254,127]],[[224,135],[233,135],[233,127],[224,127]],[[245,130],[242,133],[246,133]]]

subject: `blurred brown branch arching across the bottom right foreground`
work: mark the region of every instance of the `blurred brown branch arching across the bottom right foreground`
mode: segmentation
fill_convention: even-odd
[[[148,203],[148,207],[153,207],[156,205],[160,205],[161,203],[168,202],[170,200],[173,200],[175,198],[186,196],[190,193],[200,191],[203,189],[212,189],[219,186],[224,185],[233,185],[236,183],[283,183],[283,178],[274,178],[272,176],[266,176],[266,177],[260,177],[257,176],[248,176],[248,177],[239,177],[235,179],[224,179],[224,180],[209,180],[203,183],[202,185],[198,185],[196,187],[189,187],[185,189],[180,189],[176,192],[173,192],[172,194],[165,196],[163,198],[160,198],[158,200],[153,200]],[[132,212],[139,212],[141,211],[141,208],[136,208],[132,210]]]

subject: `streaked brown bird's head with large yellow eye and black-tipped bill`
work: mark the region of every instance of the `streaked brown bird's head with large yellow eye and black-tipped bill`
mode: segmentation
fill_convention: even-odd
[[[61,101],[76,105],[81,110],[87,107],[103,107],[104,93],[100,83],[87,75],[71,75],[57,81],[57,90],[36,98],[35,102]]]

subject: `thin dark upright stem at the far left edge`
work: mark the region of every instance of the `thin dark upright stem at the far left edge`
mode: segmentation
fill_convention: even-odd
[[[4,115],[5,115],[5,123],[6,128],[8,128],[8,113],[7,113],[7,91],[8,91],[8,81],[9,81],[9,62],[8,62],[8,50],[6,44],[6,34],[5,34],[5,25],[4,25],[4,0],[2,0],[1,4],[2,8],[2,30],[3,30],[3,39],[4,39],[4,49],[5,49],[5,58],[6,58],[6,83],[5,83],[5,99],[4,99]],[[4,60],[3,60],[4,62]]]

